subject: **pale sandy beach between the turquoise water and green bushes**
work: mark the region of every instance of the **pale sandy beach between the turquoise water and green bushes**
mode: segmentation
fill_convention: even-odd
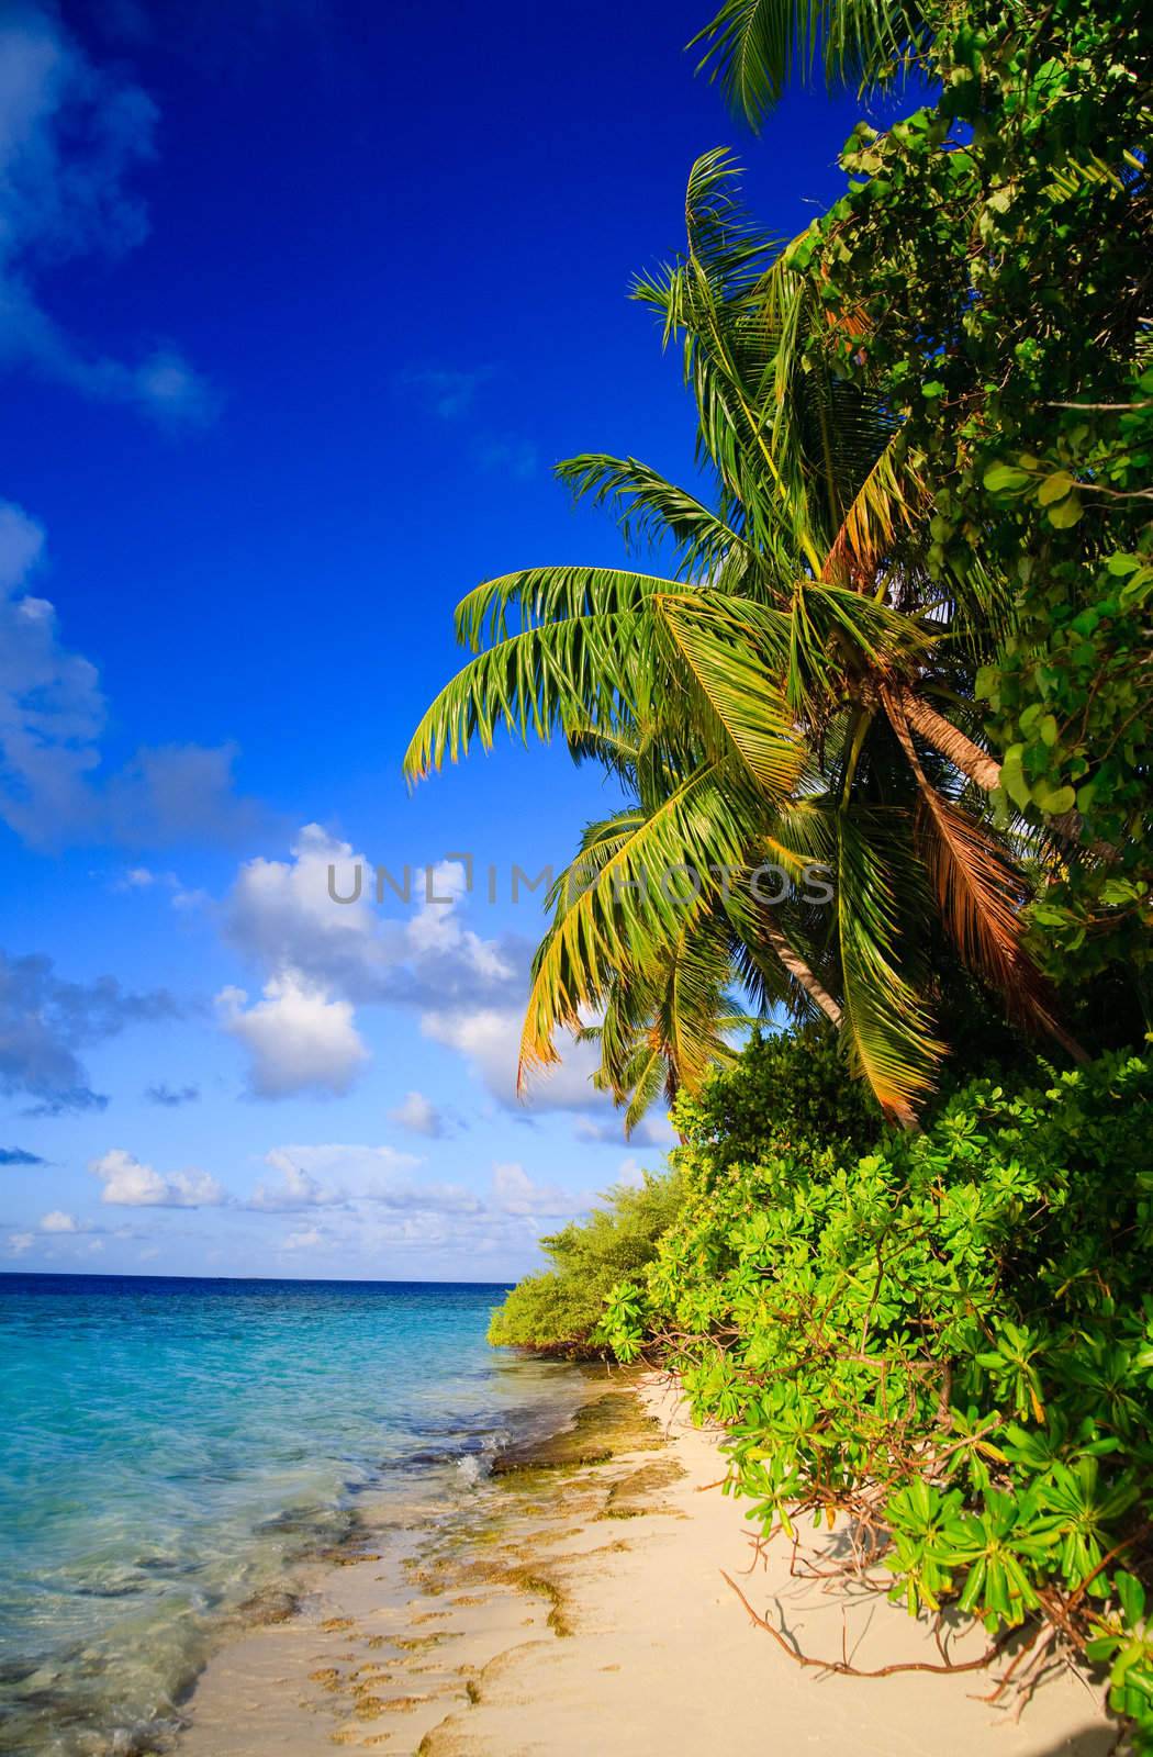
[[[448,1516],[406,1508],[359,1558],[318,1569],[297,1615],[228,1643],[188,1704],[179,1757],[1113,1748],[1099,1692],[1069,1671],[1016,1718],[1019,1704],[983,1701],[997,1671],[859,1680],[796,1666],[722,1571],[814,1655],[879,1667],[939,1653],[884,1599],[791,1578],[787,1546],[758,1560],[740,1502],[715,1486],[717,1439],[675,1392],[619,1376],[594,1390],[550,1453],[506,1457]],[[844,1541],[821,1539],[833,1553]],[[981,1646],[970,1636],[951,1655]]]

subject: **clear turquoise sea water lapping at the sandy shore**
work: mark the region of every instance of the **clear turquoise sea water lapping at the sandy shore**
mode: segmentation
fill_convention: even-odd
[[[0,1276],[0,1750],[153,1748],[366,1490],[448,1500],[554,1425],[571,1374],[489,1349],[501,1293]]]

